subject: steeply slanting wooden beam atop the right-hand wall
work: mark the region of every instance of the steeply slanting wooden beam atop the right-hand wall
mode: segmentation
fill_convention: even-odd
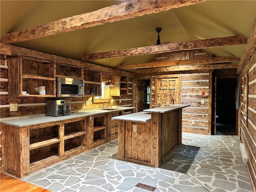
[[[254,25],[252,26],[252,30],[248,37],[248,41],[245,45],[245,48],[241,55],[241,59],[238,63],[237,72],[236,72],[237,74],[240,74],[242,72],[242,70],[250,60],[255,50],[256,50],[256,19],[254,20]]]

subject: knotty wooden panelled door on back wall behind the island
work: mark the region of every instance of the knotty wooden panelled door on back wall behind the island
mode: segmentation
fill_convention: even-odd
[[[158,78],[156,103],[180,104],[180,78]]]

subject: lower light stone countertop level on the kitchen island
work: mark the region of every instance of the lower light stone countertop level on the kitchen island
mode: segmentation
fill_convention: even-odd
[[[138,112],[138,113],[132,113],[132,114],[127,114],[127,115],[112,117],[112,119],[148,123],[151,121],[151,113],[150,112]]]

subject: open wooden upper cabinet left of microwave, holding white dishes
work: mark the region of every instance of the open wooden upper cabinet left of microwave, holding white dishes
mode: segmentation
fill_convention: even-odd
[[[54,64],[50,60],[29,56],[8,58],[8,96],[55,97]],[[40,93],[36,88],[43,86]]]

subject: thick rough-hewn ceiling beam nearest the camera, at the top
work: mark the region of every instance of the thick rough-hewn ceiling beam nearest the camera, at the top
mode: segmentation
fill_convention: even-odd
[[[93,12],[84,13],[46,24],[38,25],[29,29],[23,29],[6,34],[1,42],[11,44],[39,37],[70,32],[82,28],[102,25],[108,22],[116,22],[170,10],[182,6],[189,6],[206,0],[131,0],[118,5],[112,5]],[[60,2],[61,3],[61,2]]]

